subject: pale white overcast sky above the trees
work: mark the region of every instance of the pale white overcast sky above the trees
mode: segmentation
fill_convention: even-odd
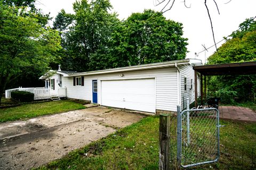
[[[216,43],[237,30],[239,24],[245,21],[246,18],[256,16],[255,0],[229,1],[215,0],[219,7],[219,14],[213,0],[207,0]],[[41,8],[44,13],[50,12],[50,16],[54,18],[62,8],[68,13],[74,13],[72,5],[74,2],[75,0],[37,0],[36,6]],[[149,8],[155,11],[161,11],[164,4],[162,6],[155,6],[154,4],[156,2],[157,0],[110,0],[113,6],[111,12],[117,12],[118,18],[122,20],[128,18],[132,13],[143,12]],[[190,8],[185,7],[183,0],[176,0],[172,9],[165,12],[164,16],[166,19],[183,24],[183,37],[188,38],[189,44],[187,46],[189,52],[186,58],[196,57],[204,63],[205,58],[212,55],[216,50],[209,16],[204,5],[204,0],[187,0],[186,5],[190,6]],[[217,47],[221,46],[222,43],[225,43],[225,41],[221,41]],[[206,51],[203,46],[206,48],[213,47]],[[197,56],[195,53],[197,53]]]

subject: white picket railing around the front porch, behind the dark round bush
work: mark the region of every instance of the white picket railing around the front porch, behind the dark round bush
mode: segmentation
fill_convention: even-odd
[[[5,98],[11,98],[12,91],[28,91],[34,94],[34,100],[40,99],[50,99],[51,98],[51,91],[50,89],[45,89],[42,87],[39,88],[15,88],[10,90],[5,90]],[[58,89],[58,96],[59,97],[67,97],[67,88],[59,88]]]

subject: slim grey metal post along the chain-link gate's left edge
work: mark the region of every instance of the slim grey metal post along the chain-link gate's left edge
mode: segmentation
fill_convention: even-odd
[[[181,164],[181,115],[180,106],[177,106],[177,162]]]

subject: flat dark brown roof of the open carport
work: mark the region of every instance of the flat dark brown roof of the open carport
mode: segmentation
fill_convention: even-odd
[[[256,61],[194,66],[193,69],[203,75],[243,75],[256,74]]]

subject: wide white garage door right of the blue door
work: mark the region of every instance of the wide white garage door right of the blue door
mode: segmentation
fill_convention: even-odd
[[[103,106],[155,113],[155,79],[102,81],[101,87]]]

